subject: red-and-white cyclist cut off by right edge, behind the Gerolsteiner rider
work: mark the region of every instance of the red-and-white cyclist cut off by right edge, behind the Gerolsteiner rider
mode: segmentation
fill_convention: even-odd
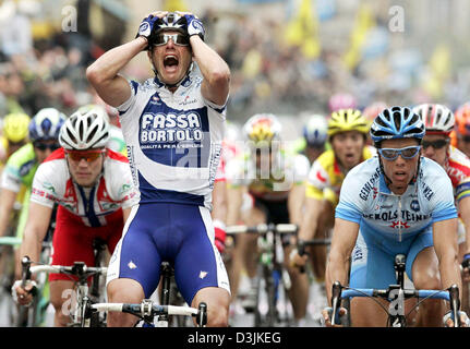
[[[458,243],[459,261],[470,262],[470,158],[450,145],[450,132],[455,117],[449,108],[438,104],[423,104],[414,107],[426,125],[422,142],[423,155],[439,164],[447,172],[454,186],[456,206],[459,213]],[[463,279],[470,281],[469,267],[463,268]],[[462,306],[469,310],[468,285],[462,284]]]

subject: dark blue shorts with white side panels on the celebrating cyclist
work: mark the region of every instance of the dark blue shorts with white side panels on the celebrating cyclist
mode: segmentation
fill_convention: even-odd
[[[206,287],[220,287],[230,293],[214,234],[206,207],[174,203],[135,205],[111,256],[106,284],[130,278],[149,298],[160,279],[160,264],[166,261],[173,266],[178,289],[188,304]]]

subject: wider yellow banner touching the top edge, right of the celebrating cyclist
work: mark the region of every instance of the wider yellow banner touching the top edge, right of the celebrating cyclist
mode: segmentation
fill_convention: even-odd
[[[318,40],[318,19],[313,0],[301,0],[298,12],[286,28],[285,39],[288,45],[298,46],[304,57],[314,59],[321,52]]]

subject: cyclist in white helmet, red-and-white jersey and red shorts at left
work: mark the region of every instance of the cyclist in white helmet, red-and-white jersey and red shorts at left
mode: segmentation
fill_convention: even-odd
[[[109,139],[107,121],[91,110],[75,112],[61,128],[62,148],[53,152],[37,169],[31,195],[29,216],[21,246],[22,255],[39,260],[52,207],[59,204],[52,241],[52,264],[94,265],[93,240],[106,241],[110,252],[121,238],[124,221],[138,198],[132,184],[129,163],[105,147]],[[73,289],[70,276],[50,274],[50,300],[56,309],[55,325],[67,326],[70,317],[62,306],[63,292]],[[31,293],[16,281],[20,304],[32,301]]]

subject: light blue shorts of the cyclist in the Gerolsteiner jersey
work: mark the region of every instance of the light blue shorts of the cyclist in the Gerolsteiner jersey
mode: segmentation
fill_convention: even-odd
[[[361,229],[351,255],[350,287],[387,288],[397,284],[395,256],[405,254],[406,273],[412,281],[412,266],[417,255],[433,245],[432,227],[401,242],[390,241],[374,234],[372,229],[361,225]]]

